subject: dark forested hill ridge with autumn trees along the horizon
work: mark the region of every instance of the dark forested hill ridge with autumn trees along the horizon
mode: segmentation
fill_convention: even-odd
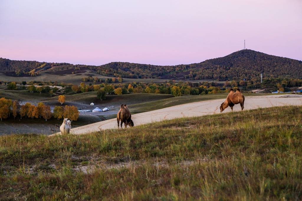
[[[0,71],[14,71],[16,74],[39,75],[40,72],[62,71],[79,73],[94,70],[98,74],[124,78],[161,79],[213,79],[242,80],[265,77],[302,78],[302,61],[256,52],[240,50],[220,58],[201,63],[159,66],[128,62],[111,62],[101,66],[73,65],[68,63],[46,63],[37,61],[12,61],[0,58]]]

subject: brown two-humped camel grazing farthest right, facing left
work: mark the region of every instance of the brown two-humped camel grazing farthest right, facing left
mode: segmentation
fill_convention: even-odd
[[[226,100],[220,105],[220,112],[225,110],[228,106],[230,106],[233,111],[233,106],[238,103],[240,103],[241,110],[243,110],[244,96],[239,89],[236,90],[236,93],[234,93],[234,90],[231,89],[230,93],[226,97]]]

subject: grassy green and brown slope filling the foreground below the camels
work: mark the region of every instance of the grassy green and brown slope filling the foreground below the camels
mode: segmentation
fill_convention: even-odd
[[[0,137],[0,200],[301,200],[301,112],[275,107],[82,136]]]

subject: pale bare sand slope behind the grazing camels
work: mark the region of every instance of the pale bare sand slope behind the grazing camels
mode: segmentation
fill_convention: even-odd
[[[183,105],[175,105],[168,108],[159,110],[143,112],[132,115],[134,126],[140,124],[147,124],[156,121],[162,121],[173,118],[181,117],[194,117],[202,115],[212,115],[220,113],[220,104],[224,99],[201,101],[187,103]],[[256,109],[256,108],[267,108],[274,106],[285,106],[285,105],[302,105],[302,95],[271,95],[271,96],[248,96],[244,102],[244,110]],[[130,106],[131,108],[131,106]],[[235,105],[233,111],[240,111],[240,105]],[[230,112],[230,107],[226,108],[225,112]],[[116,119],[110,119],[106,121],[89,124],[71,130],[72,134],[85,134],[89,132],[99,131],[102,129],[117,128]]]

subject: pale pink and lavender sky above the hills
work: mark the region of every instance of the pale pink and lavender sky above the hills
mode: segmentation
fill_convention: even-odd
[[[247,49],[302,60],[302,0],[0,0],[0,57],[190,64]]]

